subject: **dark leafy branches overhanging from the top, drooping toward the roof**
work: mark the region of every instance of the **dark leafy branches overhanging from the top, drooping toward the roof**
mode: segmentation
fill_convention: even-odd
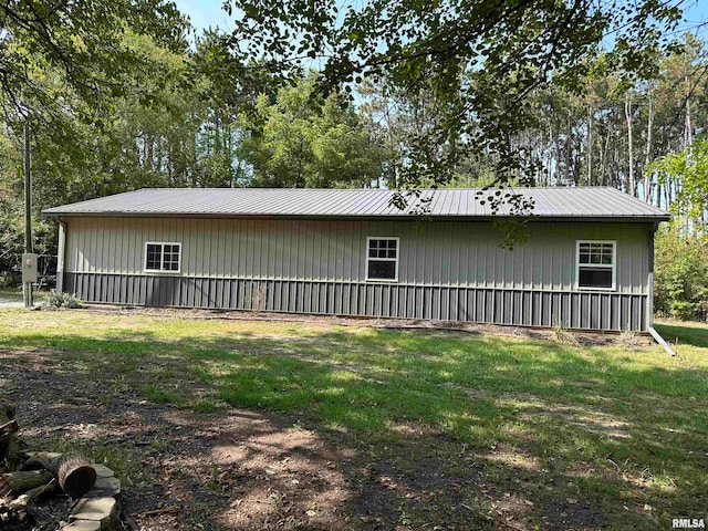
[[[678,3],[678,2],[675,2]],[[675,3],[521,0],[311,2],[236,0],[232,45],[272,71],[324,62],[327,86],[383,76],[408,94],[429,88],[436,127],[413,142],[405,173],[440,183],[468,155],[493,153],[497,181],[531,180],[535,160],[513,143],[529,127],[530,94],[559,85],[577,91],[603,39],[615,71],[653,67],[647,50],[679,18]],[[441,149],[442,147],[442,149]]]

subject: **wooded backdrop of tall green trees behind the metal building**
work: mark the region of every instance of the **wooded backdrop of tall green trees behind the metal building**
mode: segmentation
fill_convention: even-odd
[[[64,13],[44,12],[42,3],[0,7],[0,271],[17,266],[22,248],[25,119],[33,131],[35,239],[48,253],[55,252],[55,228],[41,219],[42,208],[143,187],[501,184],[615,187],[671,211],[659,256],[665,249],[708,256],[708,48],[695,34],[647,46],[641,60],[633,59],[636,72],[628,72],[631,54],[623,62],[597,51],[583,31],[601,28],[590,19],[575,21],[568,41],[556,37],[583,54],[569,48],[565,62],[539,66],[561,71],[565,77],[558,83],[527,79],[522,69],[502,69],[506,85],[479,69],[442,72],[430,49],[429,62],[363,69],[361,79],[327,63],[322,82],[315,62],[281,75],[268,54],[244,59],[237,32],[210,29],[192,39],[188,21],[169,2],[84,0],[82,9]],[[504,17],[513,22],[516,14]],[[354,49],[366,38],[363,19],[354,23],[361,28],[344,38],[352,56],[364,53]],[[419,43],[427,42],[424,37]],[[302,54],[312,50],[303,44]],[[471,53],[466,50],[460,48],[460,58]],[[488,49],[514,50],[498,43]],[[489,75],[503,66],[485,64]],[[457,92],[440,92],[446,80]],[[527,91],[513,105],[509,93],[499,92],[510,86]],[[479,100],[458,101],[470,94]],[[460,108],[467,110],[458,114],[464,126],[450,127]],[[698,262],[687,258],[691,267]],[[707,315],[701,304],[708,281],[699,281],[706,266],[686,273],[696,279],[690,289],[676,288],[684,273],[662,267],[657,262],[657,281],[674,280],[671,288],[657,289],[668,301],[657,308]]]

